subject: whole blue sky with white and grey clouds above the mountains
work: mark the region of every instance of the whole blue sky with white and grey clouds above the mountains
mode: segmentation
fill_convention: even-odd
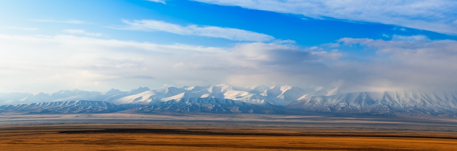
[[[0,92],[457,91],[453,0],[0,1]]]

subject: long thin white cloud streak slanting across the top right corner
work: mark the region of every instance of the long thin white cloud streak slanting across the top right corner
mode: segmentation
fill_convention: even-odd
[[[457,1],[340,1],[340,0],[194,0],[202,3],[240,6],[247,9],[301,14],[316,19],[326,17],[457,34],[452,22],[457,18]]]

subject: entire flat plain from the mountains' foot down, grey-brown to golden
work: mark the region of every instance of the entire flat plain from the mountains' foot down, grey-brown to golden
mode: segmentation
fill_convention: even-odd
[[[0,115],[0,150],[457,150],[457,120],[330,115]]]

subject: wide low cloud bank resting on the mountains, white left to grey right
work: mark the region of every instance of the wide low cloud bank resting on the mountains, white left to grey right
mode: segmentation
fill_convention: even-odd
[[[342,38],[299,48],[246,42],[232,47],[162,45],[70,35],[0,35],[0,92],[106,91],[165,84],[288,84],[341,92],[457,90],[457,41],[425,36]],[[354,47],[373,52],[363,60]],[[58,89],[58,90],[56,90]]]

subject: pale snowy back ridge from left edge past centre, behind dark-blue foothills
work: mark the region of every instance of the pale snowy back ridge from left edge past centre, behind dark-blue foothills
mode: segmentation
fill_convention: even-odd
[[[123,92],[111,89],[108,92],[62,90],[53,94],[9,93],[0,95],[0,105],[62,102],[74,100],[97,100],[115,104],[153,104],[182,98],[221,98],[242,101],[257,105],[283,106],[300,98],[325,95],[325,90],[301,89],[291,86],[256,86],[251,88],[217,84],[205,87],[168,87],[150,90],[146,87]]]

